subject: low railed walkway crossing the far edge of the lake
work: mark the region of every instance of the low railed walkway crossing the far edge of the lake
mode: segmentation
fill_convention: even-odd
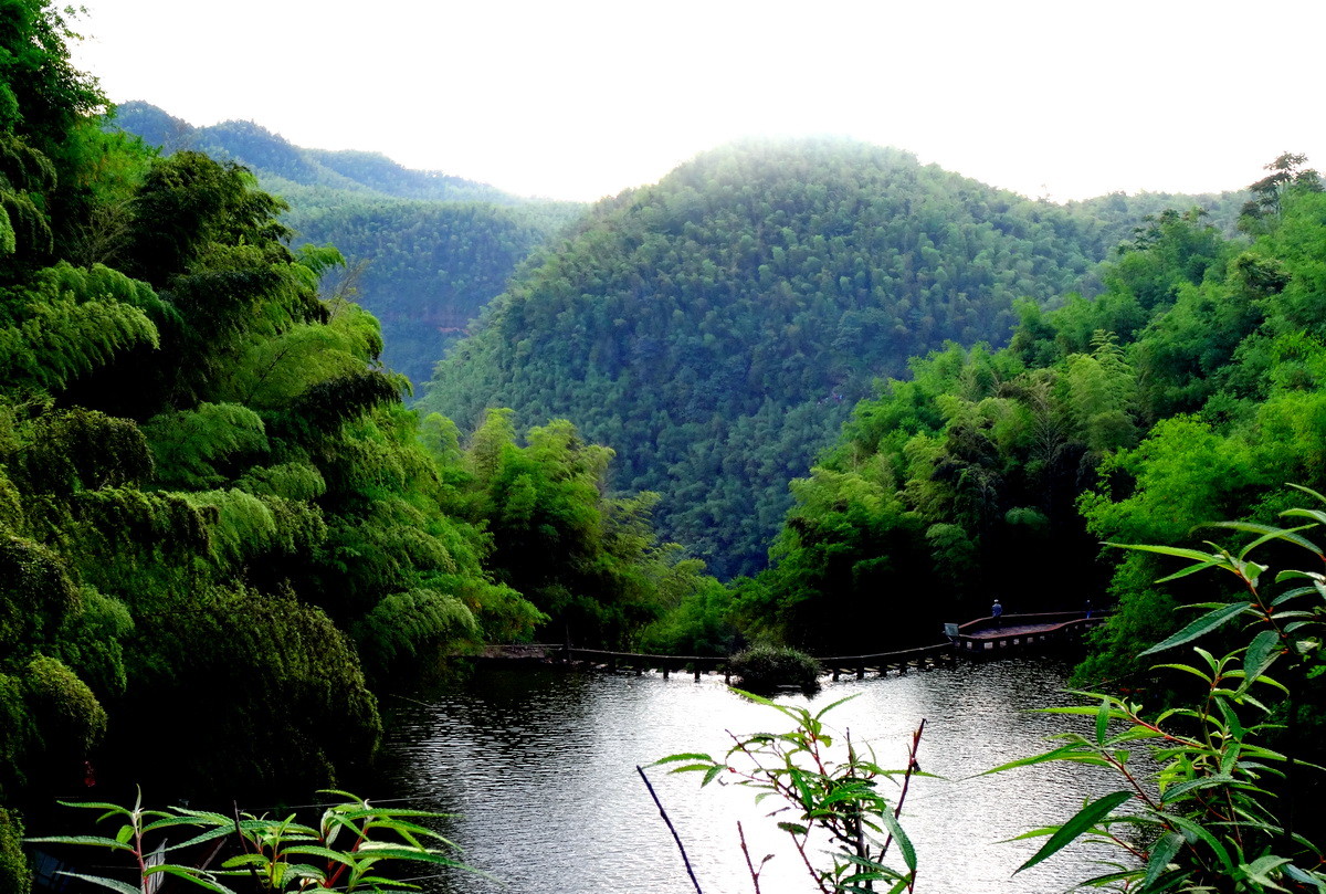
[[[886,676],[911,670],[931,670],[959,658],[1002,658],[1020,651],[1049,651],[1078,646],[1082,634],[1105,623],[1106,615],[1082,611],[1052,611],[1045,614],[1006,614],[996,618],[977,618],[963,625],[949,625],[949,641],[904,649],[902,651],[870,655],[830,655],[817,658],[825,672],[834,680],[843,675],[865,679],[867,674]],[[491,646],[484,658],[524,659],[540,663],[589,666],[609,672],[662,671],[667,679],[672,674],[687,674],[699,680],[704,674],[721,674],[723,682],[732,680],[729,659],[711,655],[651,655],[643,653],[609,651],[603,649],[575,649],[557,643],[524,643]]]

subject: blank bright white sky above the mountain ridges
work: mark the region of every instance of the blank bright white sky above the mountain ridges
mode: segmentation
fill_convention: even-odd
[[[1326,1],[82,0],[114,102],[594,200],[743,137],[843,135],[1032,198],[1326,167]]]

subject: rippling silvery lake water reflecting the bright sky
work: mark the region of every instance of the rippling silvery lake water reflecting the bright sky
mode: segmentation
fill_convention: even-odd
[[[918,891],[1041,894],[1095,874],[1089,854],[1059,854],[1012,877],[1040,841],[1000,844],[1063,821],[1113,780],[1067,765],[976,777],[1044,751],[1063,718],[1029,714],[1063,703],[1066,669],[1024,661],[957,665],[884,679],[827,683],[812,706],[847,695],[829,720],[870,741],[884,767],[906,764],[922,718],[923,769],[903,825],[916,844]],[[786,700],[805,704],[806,699]],[[683,751],[719,755],[736,734],[788,728],[782,716],[732,695],[721,679],[610,676],[544,670],[483,670],[464,691],[430,704],[403,703],[387,745],[396,795],[455,813],[446,830],[467,861],[497,881],[453,874],[428,879],[446,894],[690,894],[667,826],[636,764]],[[764,894],[812,890],[809,877],[765,810],[737,787],[699,788],[697,775],[650,779],[676,825],[705,894],[752,891],[737,842],[740,820],[754,858],[774,853]],[[900,862],[900,861],[899,861]]]

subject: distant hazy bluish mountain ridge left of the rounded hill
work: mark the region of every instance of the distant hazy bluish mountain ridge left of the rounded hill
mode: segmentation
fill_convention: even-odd
[[[114,126],[167,155],[200,151],[243,164],[284,198],[296,244],[330,243],[350,260],[347,294],[382,324],[387,366],[415,383],[516,265],[582,210],[412,171],[375,153],[301,149],[253,122],[194,127],[146,102],[121,105]]]

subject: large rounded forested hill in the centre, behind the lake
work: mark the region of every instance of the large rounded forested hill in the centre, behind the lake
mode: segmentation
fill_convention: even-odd
[[[846,141],[743,143],[597,206],[439,366],[424,406],[566,416],[720,574],[753,573],[805,470],[870,393],[1014,301],[1101,288],[1128,229]],[[1140,214],[1134,219],[1134,225]]]

